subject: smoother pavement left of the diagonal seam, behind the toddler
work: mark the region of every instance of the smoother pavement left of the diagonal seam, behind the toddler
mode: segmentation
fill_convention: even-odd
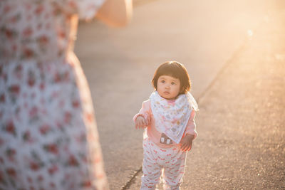
[[[134,130],[132,117],[152,91],[157,65],[184,63],[192,93],[201,97],[248,34],[269,19],[272,2],[148,1],[135,7],[126,28],[80,24],[76,54],[93,95],[110,189],[122,189],[140,169],[142,131]]]

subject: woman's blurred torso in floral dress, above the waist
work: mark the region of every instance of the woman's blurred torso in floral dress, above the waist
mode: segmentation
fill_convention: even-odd
[[[0,63],[60,62],[73,49],[77,18],[51,1],[0,2]]]

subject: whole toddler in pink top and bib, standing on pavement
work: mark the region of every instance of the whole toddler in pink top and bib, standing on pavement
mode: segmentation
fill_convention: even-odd
[[[152,85],[155,92],[133,117],[135,128],[145,128],[140,189],[156,189],[161,175],[163,189],[180,189],[186,154],[197,137],[197,102],[189,93],[190,78],[181,63],[162,63]]]

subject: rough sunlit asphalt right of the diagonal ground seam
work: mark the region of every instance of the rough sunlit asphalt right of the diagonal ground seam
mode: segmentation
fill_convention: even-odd
[[[284,33],[272,12],[200,97],[182,189],[285,189]]]

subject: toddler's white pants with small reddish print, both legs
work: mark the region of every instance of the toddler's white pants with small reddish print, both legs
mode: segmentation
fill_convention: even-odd
[[[180,189],[187,153],[179,147],[161,148],[149,138],[143,140],[141,190],[155,189],[162,176],[163,189]]]

